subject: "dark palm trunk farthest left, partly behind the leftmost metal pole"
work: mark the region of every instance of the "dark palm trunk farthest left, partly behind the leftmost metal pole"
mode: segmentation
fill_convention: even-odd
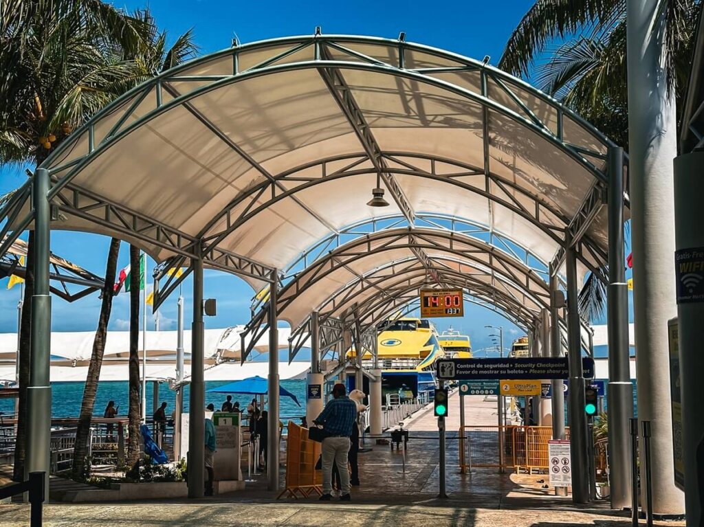
[[[34,295],[34,231],[27,239],[27,272],[25,273],[25,296],[22,299],[20,320],[19,388],[17,410],[17,438],[15,440],[15,466],[13,479],[25,479],[25,455],[27,452],[27,386],[30,384],[30,335],[32,326],[32,295]]]

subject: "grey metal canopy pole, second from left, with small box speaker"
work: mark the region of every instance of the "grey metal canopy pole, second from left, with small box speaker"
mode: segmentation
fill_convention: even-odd
[[[191,326],[191,386],[188,426],[188,497],[205,490],[206,385],[203,381],[203,260],[193,258],[193,325]]]

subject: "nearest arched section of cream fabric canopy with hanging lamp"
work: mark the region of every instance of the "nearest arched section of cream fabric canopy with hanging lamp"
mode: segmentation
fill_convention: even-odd
[[[177,254],[174,239],[204,238],[284,269],[348,224],[435,212],[486,224],[548,262],[603,179],[607,146],[570,110],[488,65],[318,35],[174,68],[96,115],[44,166],[70,182],[52,227],[120,236],[158,261]],[[370,208],[379,172],[390,206]],[[155,227],[129,231],[101,200]],[[144,234],[156,227],[169,235]],[[585,245],[601,254],[580,250],[582,273],[604,263],[603,221]]]

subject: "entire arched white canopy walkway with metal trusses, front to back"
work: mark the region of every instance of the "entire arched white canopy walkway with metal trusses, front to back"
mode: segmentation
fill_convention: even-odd
[[[292,338],[313,335],[314,368],[322,348],[349,331],[362,338],[421,287],[461,287],[534,328],[556,305],[559,281],[551,289],[549,276],[566,274],[574,316],[560,322],[555,309],[551,324],[569,329],[578,383],[577,288],[589,270],[605,279],[603,205],[609,182],[623,180],[614,152],[579,116],[489,65],[403,39],[315,34],[234,46],[142,84],[58,147],[2,214],[13,234],[28,227],[30,186],[44,181],[35,196],[61,212],[52,228],[118,236],[168,260],[162,271],[190,262],[196,468],[189,493],[199,496],[203,267],[238,274],[256,290],[276,284],[244,334],[257,341],[281,316]],[[377,182],[388,207],[365,205]],[[627,196],[614,196],[622,229]],[[428,217],[444,220],[421,225]],[[401,219],[394,232],[382,227],[389,218]],[[455,220],[485,236],[448,234]],[[366,231],[349,228],[367,221]],[[165,279],[163,294],[179,280]],[[311,318],[318,311],[319,327]],[[329,331],[337,337],[324,338]],[[270,348],[278,348],[277,336],[270,334]],[[243,359],[247,353],[249,346]],[[579,397],[575,390],[571,404]],[[586,421],[575,419],[572,438],[575,470],[586,474]],[[270,448],[274,489],[275,441]],[[586,478],[578,476],[574,489],[575,500],[585,500]]]

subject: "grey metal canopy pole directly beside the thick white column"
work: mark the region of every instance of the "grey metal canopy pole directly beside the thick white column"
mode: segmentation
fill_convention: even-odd
[[[628,339],[628,284],[623,231],[623,148],[608,150],[608,344],[609,344],[609,479],[611,508],[631,506],[630,419],[633,386]]]

